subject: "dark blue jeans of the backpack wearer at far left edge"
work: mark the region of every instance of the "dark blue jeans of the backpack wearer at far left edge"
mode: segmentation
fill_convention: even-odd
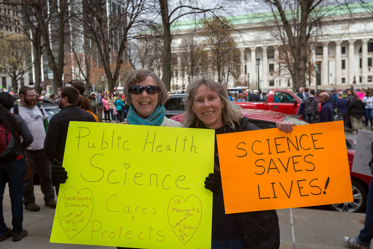
[[[12,225],[13,233],[22,232],[23,221],[23,183],[26,175],[25,158],[0,164],[0,234],[7,232],[4,222],[3,199],[6,177],[9,181],[10,204],[12,205]]]

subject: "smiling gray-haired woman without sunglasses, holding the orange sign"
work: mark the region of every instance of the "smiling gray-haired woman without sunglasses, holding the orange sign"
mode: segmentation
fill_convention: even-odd
[[[213,192],[211,249],[277,249],[280,228],[276,210],[225,214],[219,152],[216,135],[259,130],[229,101],[226,85],[210,74],[194,77],[186,88],[183,124],[189,128],[215,130],[214,172],[206,177],[205,188]],[[294,122],[276,123],[280,131],[291,133]]]

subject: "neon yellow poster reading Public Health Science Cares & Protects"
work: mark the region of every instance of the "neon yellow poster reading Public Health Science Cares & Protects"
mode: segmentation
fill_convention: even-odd
[[[50,242],[210,248],[214,131],[70,122]]]

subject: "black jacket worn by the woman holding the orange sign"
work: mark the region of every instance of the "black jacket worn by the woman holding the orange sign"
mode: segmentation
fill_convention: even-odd
[[[192,125],[191,128],[196,127]],[[260,130],[260,128],[252,124],[249,118],[243,117],[232,132],[253,130]],[[276,210],[243,212],[235,216],[244,249],[278,249],[280,247],[280,227]]]

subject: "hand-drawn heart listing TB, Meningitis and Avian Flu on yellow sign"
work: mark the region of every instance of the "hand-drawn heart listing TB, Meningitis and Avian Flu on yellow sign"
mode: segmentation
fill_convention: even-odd
[[[184,245],[188,243],[200,226],[201,216],[201,200],[195,195],[188,196],[186,200],[177,195],[172,197],[168,204],[168,222],[176,237]]]

